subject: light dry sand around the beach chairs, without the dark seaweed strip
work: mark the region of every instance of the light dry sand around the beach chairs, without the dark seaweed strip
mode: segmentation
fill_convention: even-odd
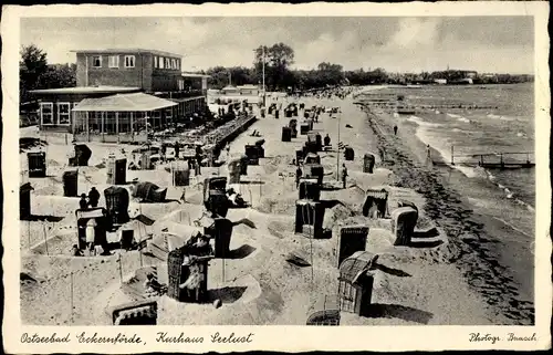
[[[323,191],[321,195],[322,200],[338,200],[344,205],[325,213],[325,227],[333,228],[340,222],[348,221],[366,223],[371,227],[366,250],[380,254],[378,267],[374,270],[371,314],[358,317],[343,312],[341,324],[497,324],[497,317],[487,312],[483,300],[468,288],[462,274],[450,262],[456,250],[441,230],[440,244],[437,247],[398,248],[393,247],[389,221],[383,225],[382,221],[361,216],[364,190],[367,188],[386,187],[390,192],[389,210],[397,207],[398,199],[408,199],[419,207],[426,202],[422,196],[411,189],[394,187],[394,174],[379,167],[380,161],[377,161],[375,174],[362,173],[363,154],[376,153],[378,143],[366,123],[365,113],[356,107],[351,98],[301,101],[306,107],[341,106],[340,138],[353,147],[356,155],[355,160],[345,161],[349,171],[348,187]],[[231,154],[243,153],[244,144],[260,139],[249,136],[255,129],[265,139],[265,158],[260,159],[259,166],[249,166],[248,176],[244,177],[246,184],[237,187],[252,207],[230,210],[227,217],[231,221],[247,218],[255,228],[246,225],[234,227],[230,244],[233,257],[226,260],[215,259],[210,262],[208,290],[212,299],[221,300],[222,306],[216,309],[210,303],[177,303],[167,296],[161,296],[158,299],[157,324],[304,325],[311,305],[319,296],[337,295],[338,270],[334,255],[337,247],[336,236],[333,234],[331,239],[310,240],[293,233],[298,190],[294,181],[295,167],[291,161],[295,157],[295,149],[303,146],[306,136],[299,135],[291,143],[281,142],[281,127],[285,124],[288,118],[274,119],[272,116],[262,118],[231,144]],[[337,125],[337,118],[322,114],[314,128],[321,129],[323,136],[328,133],[335,147]],[[352,128],[346,128],[346,125]],[[93,147],[93,157],[97,156],[96,152]],[[335,180],[336,153],[320,155],[325,174],[331,171],[334,174],[325,176],[325,182],[332,182]],[[343,163],[341,156],[340,165]],[[83,184],[100,185],[102,180],[105,182],[105,168],[88,169],[94,170],[94,174],[88,175],[90,182],[83,181]],[[128,171],[127,180],[135,174],[145,179],[142,173]],[[227,175],[226,167],[204,169],[202,177],[217,173]],[[152,182],[168,186],[170,179],[167,171],[157,169],[150,175],[148,179]],[[60,188],[60,185],[53,186]],[[84,189],[80,188],[81,190]],[[170,189],[168,198],[178,198],[180,194],[181,189]],[[58,201],[65,199],[62,197],[52,200],[44,197],[50,194],[35,195],[33,198],[36,200],[41,198],[48,200],[44,206],[67,205],[65,209],[73,210],[77,205],[77,199],[67,198],[70,201],[65,203]],[[201,187],[191,186],[186,188],[186,203],[142,203],[139,207],[132,205],[131,208],[140,209],[142,213],[156,220],[152,226],[155,236],[156,229],[160,226],[167,226],[169,222],[187,223],[188,220],[198,218],[201,215]],[[103,200],[100,203],[102,206]],[[434,226],[431,219],[424,213],[419,221]],[[22,243],[25,243],[23,225],[21,232]],[[128,280],[140,265],[157,264],[158,274],[166,268],[164,262],[140,255],[136,251],[122,254],[121,269],[118,255],[105,258],[61,255],[61,250],[72,243],[71,241],[67,243],[66,240],[74,240],[73,234],[69,232],[67,237],[59,238],[60,244],[64,247],[60,247],[58,255],[52,250],[50,255],[45,255],[41,248],[34,248],[30,254],[22,258],[22,269],[34,278],[33,281],[25,282],[21,289],[21,313],[24,323],[111,324],[105,309],[129,301],[117,286],[121,283],[119,274]],[[312,267],[300,268],[286,262],[285,259],[290,253],[304,259]],[[73,312],[69,305],[71,272],[74,272]]]

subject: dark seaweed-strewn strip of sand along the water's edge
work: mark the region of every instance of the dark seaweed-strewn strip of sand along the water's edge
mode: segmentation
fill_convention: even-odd
[[[459,255],[450,255],[449,262],[455,263],[468,284],[483,295],[493,313],[507,316],[513,324],[533,324],[533,302],[520,300],[533,300],[533,290],[528,290],[533,288],[533,268],[524,271],[511,268],[517,262],[509,263],[505,260],[509,258],[502,255],[498,248],[503,242],[498,236],[510,232],[501,231],[498,223],[510,225],[474,211],[474,206],[450,181],[456,175],[453,180],[468,179],[461,171],[447,165],[425,167],[421,161],[426,157],[426,144],[415,135],[413,126],[400,124],[396,137],[392,133],[394,118],[390,115],[372,113],[367,106],[363,106],[363,111],[367,114],[378,145],[386,149],[387,161],[384,167],[394,171],[398,178],[397,185],[413,188],[427,198],[424,207],[426,215],[446,231],[449,242],[459,249]],[[441,159],[439,152],[432,147],[430,150],[432,157]],[[435,161],[445,163],[439,159]],[[389,164],[389,160],[394,160],[394,164]],[[515,229],[513,231],[517,233]],[[530,284],[521,285],[524,278],[526,282],[531,280]]]

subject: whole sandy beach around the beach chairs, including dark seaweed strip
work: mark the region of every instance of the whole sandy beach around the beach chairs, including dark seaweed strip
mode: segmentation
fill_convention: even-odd
[[[332,238],[311,240],[293,233],[298,190],[295,168],[291,163],[295,149],[303,146],[305,136],[299,135],[291,143],[283,143],[281,126],[288,122],[286,118],[269,116],[259,119],[230,146],[231,154],[242,153],[244,144],[259,139],[250,136],[254,129],[265,139],[265,158],[260,160],[259,166],[249,166],[243,178],[246,182],[236,187],[251,208],[234,209],[228,216],[232,221],[247,218],[255,228],[234,227],[230,249],[238,251],[237,257],[210,262],[208,290],[210,297],[221,300],[222,306],[216,309],[210,303],[178,304],[161,296],[158,300],[157,324],[305,324],[315,300],[325,294],[333,296],[337,292],[335,230],[340,225],[349,223],[369,226],[366,250],[379,254],[379,259],[374,270],[371,315],[359,317],[343,312],[341,324],[484,325],[532,322],[532,305],[524,301],[524,293],[521,293],[523,300],[517,296],[521,288],[498,263],[494,240],[482,231],[484,226],[473,218],[463,198],[444,184],[441,173],[425,164],[425,147],[408,127],[401,126],[399,135],[394,136],[392,116],[366,113],[354,105],[352,97],[343,101],[307,97],[301,101],[307,107],[340,106],[340,119],[322,114],[314,128],[328,133],[335,147],[340,124],[340,140],[355,150],[353,161],[344,161],[343,156],[340,157],[340,165],[345,163],[349,171],[347,188],[322,191],[322,200],[341,201],[325,212],[324,223],[333,229]],[[386,149],[385,161],[378,158],[378,147]],[[80,192],[91,186],[96,186],[100,191],[107,187],[106,169],[95,165],[101,163],[107,150],[121,149],[121,146],[92,148],[91,167],[82,169]],[[71,216],[79,199],[61,197],[60,176],[64,161],[59,158],[64,156],[64,150],[69,153],[70,146],[58,142],[51,143],[48,149],[58,149],[55,158],[54,155],[48,157],[49,175],[54,177],[43,181],[30,179],[35,188],[33,213]],[[374,174],[362,173],[365,153],[377,157]],[[320,155],[325,169],[324,181],[336,184],[336,152]],[[25,160],[23,155],[22,160]],[[132,202],[129,209],[139,209],[143,215],[156,220],[152,227],[136,228],[144,230],[144,236],[156,236],[159,226],[168,220],[187,223],[197,218],[201,213],[201,187],[195,184],[211,174],[226,176],[226,166],[202,169],[202,176],[192,179],[192,186],[186,187],[184,203]],[[139,177],[159,186],[168,186],[170,181],[169,173],[161,167],[152,171],[128,171],[127,176],[127,180]],[[382,187],[390,192],[389,210],[397,207],[399,199],[418,206],[418,228],[437,227],[439,236],[436,243],[418,248],[394,247],[389,220],[373,220],[361,215],[364,190]],[[168,198],[178,199],[181,189],[169,187]],[[100,203],[102,206],[103,200]],[[46,225],[40,221],[21,222],[21,267],[25,273],[22,279],[27,279],[21,286],[23,323],[111,324],[106,310],[132,301],[122,292],[119,274],[125,283],[137,269],[157,265],[158,272],[163,272],[166,268],[164,262],[138,251],[124,252],[121,269],[118,254],[69,258],[67,248],[75,240],[73,223],[74,218],[72,220],[71,217]],[[44,228],[50,238],[48,254],[43,242]],[[304,259],[312,268],[286,262],[290,253]],[[73,290],[67,292],[71,279]],[[73,295],[72,302],[66,300],[70,294]]]

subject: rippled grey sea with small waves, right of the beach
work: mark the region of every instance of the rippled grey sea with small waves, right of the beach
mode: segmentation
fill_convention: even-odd
[[[451,186],[463,195],[476,213],[487,220],[499,261],[511,270],[522,297],[533,301],[533,252],[535,240],[534,168],[488,169],[478,167],[480,154],[505,155],[504,161],[535,163],[533,84],[428,86],[395,88],[409,104],[435,108],[399,115],[414,125],[417,137],[439,152],[434,160],[451,163],[461,174],[450,174]],[[477,108],[442,108],[450,105]],[[441,105],[441,106],[440,106]],[[487,108],[482,108],[487,107]],[[499,163],[499,156],[484,156],[484,163]]]

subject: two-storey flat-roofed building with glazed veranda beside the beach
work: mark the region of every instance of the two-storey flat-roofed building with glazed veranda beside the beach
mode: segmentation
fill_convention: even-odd
[[[179,54],[143,49],[73,52],[76,87],[31,92],[39,101],[42,130],[73,133],[76,140],[108,142],[116,135],[121,142],[123,134],[125,140],[144,139],[137,136],[142,128],[185,119],[207,105],[208,75],[182,72]],[[86,106],[81,105],[85,100]]]

